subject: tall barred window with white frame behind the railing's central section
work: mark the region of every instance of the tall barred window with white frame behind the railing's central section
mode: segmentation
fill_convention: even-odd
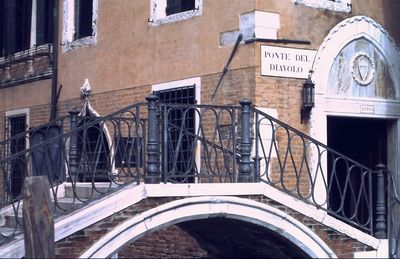
[[[152,91],[159,97],[165,107],[175,104],[200,104],[201,79],[200,77],[171,81],[152,86]],[[172,106],[165,106],[172,104]],[[166,176],[172,182],[193,182],[196,172],[200,172],[201,145],[193,137],[199,128],[199,114],[194,110],[179,109],[177,106],[168,111],[167,163],[163,170],[168,171]],[[183,118],[184,117],[184,118]],[[184,131],[179,128],[184,126]],[[181,137],[181,140],[179,140]]]

